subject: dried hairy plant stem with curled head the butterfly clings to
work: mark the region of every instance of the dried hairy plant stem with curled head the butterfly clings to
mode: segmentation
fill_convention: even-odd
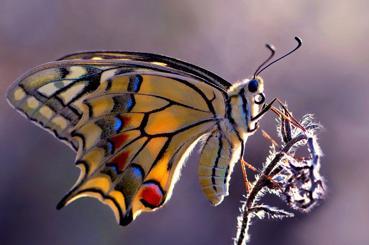
[[[282,196],[294,209],[307,210],[325,195],[323,178],[320,176],[320,158],[322,153],[315,137],[321,125],[313,122],[313,115],[305,115],[295,127],[287,120],[293,119],[282,105],[285,117],[280,117],[277,134],[282,139],[282,146],[272,140],[271,150],[263,164],[262,174],[256,176],[246,200],[242,201],[241,215],[237,218],[238,230],[234,244],[245,245],[249,240],[248,228],[255,216],[263,218],[293,217],[293,213],[268,205],[257,205],[259,199],[267,192]],[[287,118],[287,119],[286,119]],[[308,158],[296,158],[297,148],[306,146],[310,152]],[[277,147],[277,149],[276,149]],[[277,186],[277,185],[279,186]]]

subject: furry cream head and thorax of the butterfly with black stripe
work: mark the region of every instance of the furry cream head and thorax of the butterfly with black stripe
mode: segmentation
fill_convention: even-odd
[[[241,80],[228,90],[227,119],[234,125],[235,130],[245,142],[250,132],[255,128],[252,120],[259,112],[259,105],[255,103],[255,96],[263,92],[263,80],[256,76],[255,79],[247,78]],[[249,91],[249,82],[255,80],[258,83],[256,92]]]

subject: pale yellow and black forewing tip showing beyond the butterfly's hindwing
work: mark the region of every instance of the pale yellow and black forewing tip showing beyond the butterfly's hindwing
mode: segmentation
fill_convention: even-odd
[[[99,66],[46,64],[15,81],[6,97],[25,117],[76,150],[70,132],[82,116],[82,101],[99,86],[101,72]]]

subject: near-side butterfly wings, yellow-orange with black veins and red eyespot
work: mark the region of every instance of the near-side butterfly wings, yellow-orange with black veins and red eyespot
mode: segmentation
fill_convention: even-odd
[[[7,99],[77,150],[81,175],[58,208],[92,196],[127,225],[168,200],[190,149],[224,116],[219,84],[156,63],[59,61],[20,77]]]

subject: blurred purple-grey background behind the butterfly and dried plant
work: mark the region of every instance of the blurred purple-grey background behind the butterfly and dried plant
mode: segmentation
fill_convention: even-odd
[[[327,198],[308,213],[267,194],[260,203],[293,218],[256,220],[249,244],[368,244],[369,2],[0,0],[0,237],[6,244],[232,244],[245,194],[237,164],[230,196],[213,207],[201,190],[195,149],[170,201],[120,227],[97,199],[55,206],[75,183],[75,153],[13,110],[5,92],[27,70],[80,50],[172,56],[230,82],[254,74],[269,55],[303,46],[261,73],[266,101],[287,101],[299,119],[313,113]],[[261,127],[276,136],[276,116]],[[244,159],[261,167],[270,142],[260,132]],[[253,179],[251,170],[248,176]]]

